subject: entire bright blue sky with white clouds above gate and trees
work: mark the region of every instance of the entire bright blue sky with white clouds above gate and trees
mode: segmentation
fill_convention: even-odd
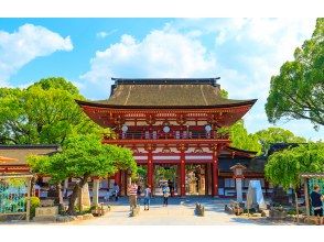
[[[0,86],[63,76],[88,99],[105,99],[110,77],[216,77],[229,98],[258,98],[249,132],[270,127],[271,75],[310,38],[315,19],[0,19]],[[281,121],[323,139],[309,121]]]

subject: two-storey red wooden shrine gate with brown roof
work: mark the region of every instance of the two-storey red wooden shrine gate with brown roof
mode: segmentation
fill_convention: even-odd
[[[218,129],[241,119],[257,100],[223,98],[217,79],[112,78],[108,100],[77,103],[96,123],[114,130],[104,143],[133,151],[152,189],[154,166],[176,165],[179,191],[185,196],[186,165],[198,164],[205,167],[206,195],[218,196],[218,156],[230,144]],[[123,172],[115,176],[123,189],[126,177]]]

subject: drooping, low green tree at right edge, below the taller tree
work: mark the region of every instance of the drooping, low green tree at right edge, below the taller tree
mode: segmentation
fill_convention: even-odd
[[[324,172],[324,143],[309,143],[298,147],[276,152],[269,156],[264,167],[266,178],[274,186],[284,189],[293,188],[296,201],[296,189],[301,185],[301,173]]]

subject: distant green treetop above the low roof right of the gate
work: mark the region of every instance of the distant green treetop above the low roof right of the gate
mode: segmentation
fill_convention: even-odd
[[[281,128],[268,128],[260,130],[253,134],[258,142],[262,145],[263,152],[270,147],[271,143],[305,143],[306,140],[301,136],[295,136],[291,131]]]

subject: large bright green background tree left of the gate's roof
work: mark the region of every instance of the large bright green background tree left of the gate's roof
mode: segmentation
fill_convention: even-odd
[[[62,144],[77,133],[99,132],[74,101],[84,99],[64,78],[46,78],[26,89],[0,88],[0,143]]]

